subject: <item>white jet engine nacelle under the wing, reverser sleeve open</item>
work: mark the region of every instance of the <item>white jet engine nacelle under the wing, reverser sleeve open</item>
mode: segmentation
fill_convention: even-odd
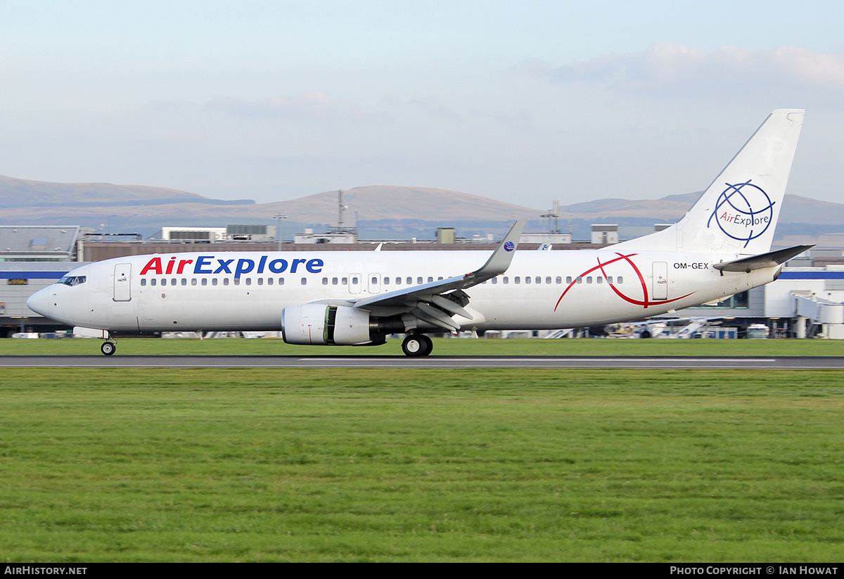
[[[370,322],[369,311],[346,306],[300,304],[281,311],[281,328],[288,344],[370,344]]]

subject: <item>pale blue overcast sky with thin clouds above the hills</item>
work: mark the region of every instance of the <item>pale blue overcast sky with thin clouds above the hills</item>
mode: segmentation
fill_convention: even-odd
[[[0,0],[0,175],[549,208],[700,191],[806,108],[789,192],[841,203],[842,27],[810,1]]]

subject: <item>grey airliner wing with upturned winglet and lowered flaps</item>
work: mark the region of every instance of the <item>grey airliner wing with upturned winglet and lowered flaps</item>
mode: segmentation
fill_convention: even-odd
[[[357,300],[355,308],[399,308],[410,315],[449,331],[460,329],[460,324],[452,320],[453,315],[471,320],[472,314],[464,309],[468,304],[468,295],[463,289],[471,288],[496,275],[505,273],[513,259],[519,237],[527,219],[519,219],[504,240],[495,249],[483,267],[465,275],[440,279],[428,284],[414,285],[404,289],[373,295]],[[449,294],[449,292],[451,292]],[[447,297],[444,294],[449,294]]]

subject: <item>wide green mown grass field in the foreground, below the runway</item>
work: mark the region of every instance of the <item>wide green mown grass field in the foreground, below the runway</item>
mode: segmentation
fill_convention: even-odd
[[[841,371],[0,382],[7,561],[844,560]]]

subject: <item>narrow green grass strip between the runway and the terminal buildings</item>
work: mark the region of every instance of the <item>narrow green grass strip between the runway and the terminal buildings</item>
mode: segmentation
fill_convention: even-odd
[[[0,339],[0,355],[100,354],[97,339]],[[293,346],[279,338],[118,338],[117,353],[401,356],[401,340],[375,347]],[[841,356],[844,341],[825,339],[452,339],[434,338],[432,355]]]

